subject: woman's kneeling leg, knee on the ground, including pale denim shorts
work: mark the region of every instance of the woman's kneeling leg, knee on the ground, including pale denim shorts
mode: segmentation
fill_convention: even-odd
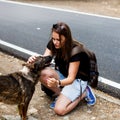
[[[54,111],[59,115],[69,113],[86,97],[86,87],[87,82],[80,79],[76,79],[71,85],[65,86],[56,101]]]

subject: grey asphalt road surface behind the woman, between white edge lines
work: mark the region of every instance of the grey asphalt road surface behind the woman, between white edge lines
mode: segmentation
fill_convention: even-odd
[[[120,19],[0,1],[0,39],[27,50],[43,54],[58,21],[66,22],[73,37],[96,53],[100,76],[120,83]]]

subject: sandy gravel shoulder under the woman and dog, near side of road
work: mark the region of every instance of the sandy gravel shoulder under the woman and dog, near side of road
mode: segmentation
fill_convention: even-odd
[[[0,73],[12,73],[22,68],[24,61],[0,52]],[[119,120],[120,99],[114,98],[101,91],[93,89],[97,97],[95,106],[88,107],[85,101],[81,101],[77,108],[65,116],[58,116],[49,108],[52,100],[41,91],[40,83],[28,109],[29,120]],[[0,120],[20,120],[16,105],[6,105],[0,102]]]

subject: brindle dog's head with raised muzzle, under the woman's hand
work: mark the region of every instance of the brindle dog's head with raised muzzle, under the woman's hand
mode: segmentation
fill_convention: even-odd
[[[27,63],[27,66],[31,72],[38,73],[45,67],[49,66],[52,60],[52,56],[38,56],[37,59],[31,64]]]

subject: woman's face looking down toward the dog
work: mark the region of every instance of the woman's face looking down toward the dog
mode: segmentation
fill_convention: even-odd
[[[61,35],[61,40],[59,34],[56,32],[52,32],[52,41],[56,49],[61,48],[65,44],[65,37]]]

